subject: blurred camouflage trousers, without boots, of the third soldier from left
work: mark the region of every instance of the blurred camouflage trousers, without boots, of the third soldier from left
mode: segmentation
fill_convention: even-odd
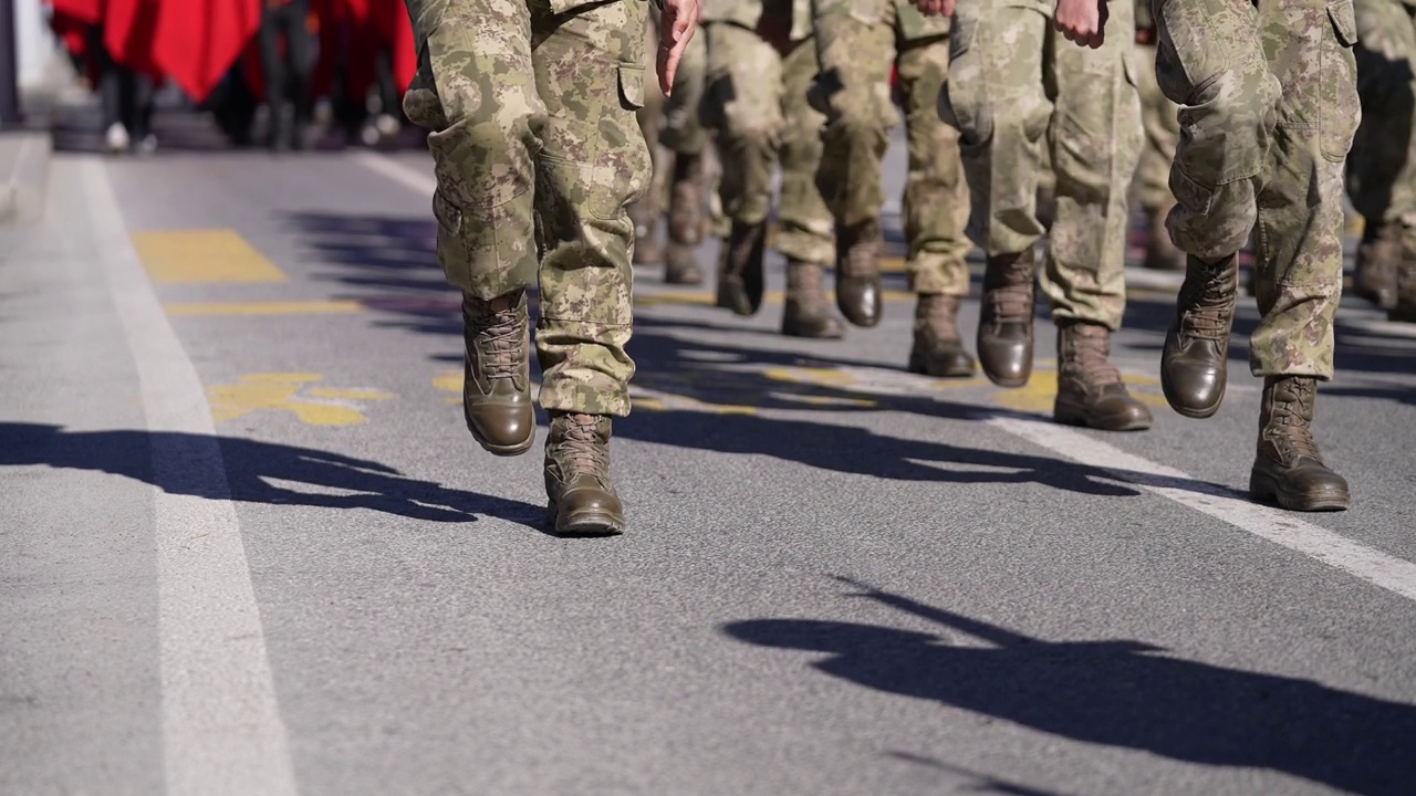
[[[704,123],[718,142],[724,215],[741,224],[766,221],[772,176],[780,163],[775,245],[789,258],[830,263],[835,255],[831,212],[816,186],[824,119],[806,102],[817,72],[811,42],[792,42],[782,54],[736,23],[708,23],[705,31]]]

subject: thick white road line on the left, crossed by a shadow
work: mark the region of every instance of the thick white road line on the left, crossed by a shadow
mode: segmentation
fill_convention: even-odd
[[[197,371],[133,252],[105,166],[82,164],[101,263],[153,432],[167,792],[296,793],[261,612]]]

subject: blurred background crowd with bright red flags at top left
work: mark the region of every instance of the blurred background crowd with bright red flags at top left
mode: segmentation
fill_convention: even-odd
[[[48,0],[50,24],[101,96],[105,146],[152,152],[157,89],[212,113],[234,146],[312,144],[313,115],[374,144],[402,126],[416,67],[402,0]]]

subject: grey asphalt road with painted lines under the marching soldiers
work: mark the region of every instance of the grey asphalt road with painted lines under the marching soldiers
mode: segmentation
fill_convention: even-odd
[[[1344,300],[1354,504],[1298,516],[1236,491],[1252,302],[1188,421],[1134,272],[1109,435],[1049,422],[1045,320],[1003,391],[903,373],[903,295],[799,341],[646,268],[629,533],[559,540],[463,428],[429,194],[79,153],[0,231],[0,792],[1416,793],[1416,326]]]

